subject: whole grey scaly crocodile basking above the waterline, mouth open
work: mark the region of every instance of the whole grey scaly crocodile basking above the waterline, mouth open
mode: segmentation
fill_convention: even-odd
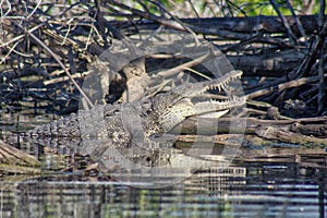
[[[191,102],[206,90],[227,87],[230,81],[240,76],[241,72],[234,71],[221,78],[181,85],[137,102],[96,106],[92,110],[80,110],[77,114],[40,125],[29,131],[27,135],[38,138],[108,137],[114,143],[129,143],[133,131],[143,131],[144,136],[150,136],[168,132],[187,117],[229,110],[244,105],[245,99],[239,97],[221,101]]]

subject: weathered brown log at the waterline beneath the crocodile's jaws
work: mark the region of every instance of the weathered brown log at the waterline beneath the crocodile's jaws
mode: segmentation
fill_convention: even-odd
[[[312,119],[293,120],[261,120],[256,118],[201,118],[201,123],[205,129],[201,130],[204,136],[196,136],[197,119],[186,119],[182,124],[181,133],[186,136],[178,136],[183,142],[215,142],[225,144],[226,138],[233,138],[233,134],[257,135],[268,141],[300,145],[325,145],[327,146],[327,117]],[[231,124],[232,123],[232,124]],[[244,129],[244,124],[246,126]],[[180,126],[172,133],[180,133]],[[218,135],[216,135],[218,134]],[[257,144],[256,138],[249,137],[253,144]],[[262,141],[262,144],[267,142]]]

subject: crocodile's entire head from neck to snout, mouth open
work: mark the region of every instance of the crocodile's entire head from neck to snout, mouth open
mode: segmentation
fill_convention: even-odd
[[[231,95],[230,83],[240,78],[242,71],[232,71],[211,81],[190,83],[178,86],[168,93],[153,98],[153,119],[156,120],[161,132],[167,132],[191,116],[202,116],[216,112],[221,117],[231,108],[245,104],[245,97]],[[209,92],[222,92],[225,99],[214,100]]]

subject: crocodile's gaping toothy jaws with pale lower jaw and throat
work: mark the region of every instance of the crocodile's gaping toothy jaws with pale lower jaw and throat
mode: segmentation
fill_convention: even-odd
[[[173,129],[187,117],[202,116],[219,118],[230,109],[245,104],[245,97],[238,97],[239,85],[231,85],[242,75],[232,71],[213,81],[198,82],[177,89],[181,98],[166,109],[159,122],[166,131]],[[240,87],[240,86],[239,86]]]

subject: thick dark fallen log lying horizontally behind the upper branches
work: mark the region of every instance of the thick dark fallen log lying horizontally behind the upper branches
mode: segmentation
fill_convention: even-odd
[[[137,14],[140,15],[140,14]],[[296,21],[293,16],[284,16],[291,29],[300,35]],[[325,16],[326,17],[326,16]],[[306,34],[313,34],[318,29],[318,15],[300,15],[298,16]],[[150,19],[149,19],[150,20]],[[181,19],[186,25],[190,25],[195,33],[213,34],[218,36],[226,36],[226,32],[237,33],[254,33],[262,31],[264,33],[284,33],[284,26],[282,21],[277,16],[247,16],[247,17],[208,17],[208,19]],[[136,24],[130,24],[129,22],[112,21],[109,22],[112,26],[119,28],[121,26],[131,26],[131,28],[144,31],[144,29],[157,29],[159,22],[152,22],[148,20],[141,21]],[[172,27],[170,25],[169,27]],[[126,32],[131,31],[125,28]]]

